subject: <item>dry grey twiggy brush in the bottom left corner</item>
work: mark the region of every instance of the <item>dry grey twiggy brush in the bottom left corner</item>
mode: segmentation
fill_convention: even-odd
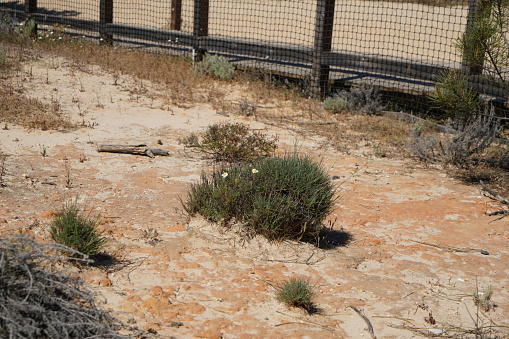
[[[0,237],[0,337],[127,338],[118,331],[132,328],[100,309],[82,280],[58,271],[71,258],[57,250],[86,261],[62,245]]]

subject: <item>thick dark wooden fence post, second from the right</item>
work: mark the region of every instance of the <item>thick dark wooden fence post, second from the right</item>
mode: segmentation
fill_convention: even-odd
[[[316,5],[315,44],[311,70],[311,95],[325,96],[329,83],[329,65],[323,63],[324,53],[332,48],[335,0],[318,0]]]

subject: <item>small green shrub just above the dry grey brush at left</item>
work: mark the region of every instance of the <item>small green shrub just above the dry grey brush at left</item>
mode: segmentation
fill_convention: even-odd
[[[98,226],[99,217],[92,219],[80,214],[76,199],[55,215],[50,234],[51,238],[60,244],[86,255],[95,255],[108,241],[101,236]]]

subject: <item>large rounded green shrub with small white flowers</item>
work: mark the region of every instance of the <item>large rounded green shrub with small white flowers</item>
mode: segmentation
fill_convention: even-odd
[[[184,207],[225,226],[237,221],[269,240],[316,240],[334,194],[321,164],[293,153],[202,174]]]

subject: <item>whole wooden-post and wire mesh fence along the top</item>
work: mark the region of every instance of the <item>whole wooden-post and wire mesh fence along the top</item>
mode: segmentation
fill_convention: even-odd
[[[407,108],[445,69],[467,70],[455,47],[478,0],[0,0],[0,11],[39,28],[63,25],[104,43],[141,45],[300,79],[312,96],[372,85]],[[507,91],[471,74],[488,100]]]

